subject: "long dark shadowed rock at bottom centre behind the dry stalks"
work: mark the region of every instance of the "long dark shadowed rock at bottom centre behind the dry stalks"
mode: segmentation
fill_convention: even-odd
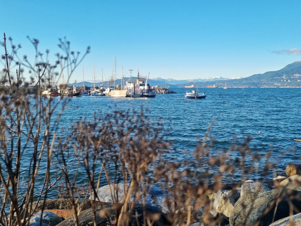
[[[119,207],[120,208],[120,207]],[[101,206],[96,207],[96,225],[97,226],[107,226],[110,225],[109,221],[107,219],[107,216],[104,215],[105,213],[110,218],[110,221],[114,221],[116,212],[112,205],[104,206],[103,208]],[[159,225],[165,225],[168,224],[168,220],[166,218],[166,215],[156,208],[152,206],[146,205],[145,207],[146,215],[144,215],[143,212],[143,206],[141,204],[136,204],[134,207],[134,211],[132,215],[130,216],[130,221],[128,225],[143,225],[143,219],[148,218],[152,222],[154,222],[154,226]],[[136,217],[138,218],[138,222],[136,221]],[[78,219],[79,219],[79,226],[93,226],[93,210],[87,209],[85,211],[80,212]],[[138,224],[137,224],[138,223]],[[114,223],[113,223],[114,224]],[[73,218],[72,216],[58,224],[57,226],[73,226]],[[121,225],[124,225],[121,223]]]

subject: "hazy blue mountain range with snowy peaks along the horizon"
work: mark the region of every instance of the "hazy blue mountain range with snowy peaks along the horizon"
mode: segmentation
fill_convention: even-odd
[[[128,80],[125,78],[124,81]],[[132,77],[132,80],[136,80],[136,77]],[[301,60],[288,64],[284,68],[278,71],[268,71],[263,74],[253,74],[245,78],[225,78],[225,77],[213,77],[209,79],[187,79],[187,80],[175,80],[172,78],[163,79],[160,77],[148,79],[148,83],[151,86],[161,87],[184,87],[187,85],[197,83],[198,87],[206,87],[207,85],[216,84],[219,87],[301,87]],[[121,79],[117,79],[115,84],[120,84]],[[104,82],[107,86],[109,82]],[[72,83],[70,85],[75,85]],[[77,83],[78,86],[83,85],[83,82]],[[85,86],[94,86],[94,83],[85,82]],[[101,82],[95,83],[95,86],[101,86]]]

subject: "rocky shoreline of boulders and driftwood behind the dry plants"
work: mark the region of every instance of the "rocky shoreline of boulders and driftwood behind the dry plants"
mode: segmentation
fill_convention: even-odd
[[[232,190],[219,190],[216,193],[208,194],[209,206],[200,206],[197,211],[194,211],[195,214],[192,216],[194,221],[191,221],[190,225],[204,225],[201,222],[208,218],[208,214],[213,219],[222,217],[223,220],[220,225],[289,226],[293,225],[292,222],[294,225],[301,225],[301,175],[279,176],[274,178],[273,182],[271,185],[270,183],[247,180],[241,187]],[[95,211],[97,216],[100,217],[97,218],[96,225],[108,225],[108,216],[114,219],[116,209],[114,209],[115,204],[113,204],[111,197],[111,189],[110,185],[106,185],[97,190]],[[123,200],[125,195],[123,184],[118,185],[118,190],[118,200]],[[134,197],[134,195],[130,196],[129,203],[134,201]],[[93,225],[94,214],[91,208],[91,199],[95,200],[94,195],[89,199],[76,200],[79,205],[77,210],[80,211],[78,216],[79,225],[81,226]],[[157,214],[156,224],[154,225],[171,225],[169,214],[172,207],[166,205],[167,201],[173,200],[171,194],[164,193],[158,187],[151,187],[144,200],[146,201],[145,205],[144,202],[138,201],[134,208],[134,212],[139,216],[139,222],[143,222],[144,213],[147,213],[148,215]],[[47,200],[43,215],[41,215],[41,212],[37,212],[30,219],[31,223],[29,225],[36,225],[34,223],[39,222],[40,219],[42,219],[42,225],[74,225],[73,212],[69,203],[67,199]],[[41,208],[41,205],[37,206],[37,209]],[[208,208],[210,211],[205,215]],[[101,216],[104,209],[107,215]],[[177,211],[183,210],[176,210],[175,212]],[[131,221],[136,220],[135,217],[131,219]]]

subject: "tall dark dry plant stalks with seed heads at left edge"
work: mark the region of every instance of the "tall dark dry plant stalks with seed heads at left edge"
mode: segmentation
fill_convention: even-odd
[[[18,56],[20,45],[15,46],[11,38],[7,40],[5,33],[3,39],[1,44],[5,53],[1,62],[4,69],[0,81],[0,225],[26,225],[38,203],[43,202],[45,205],[47,193],[62,176],[62,172],[53,174],[50,171],[56,140],[53,128],[57,127],[59,121],[53,117],[57,103],[53,103],[51,97],[45,99],[41,96],[42,83],[49,83],[50,78],[45,78],[46,72],[48,70],[49,74],[60,61],[65,62],[70,76],[82,58],[78,57],[79,53],[75,56],[70,51],[70,42],[60,40],[64,55],[57,54],[57,61],[50,65],[49,51],[45,51],[44,58],[38,50],[39,40],[28,37],[35,50],[34,62],[31,63],[26,55],[23,59]],[[10,52],[8,41],[11,43]],[[89,48],[85,55],[88,52]],[[13,77],[14,68],[16,73]],[[30,81],[23,78],[24,69],[31,74]],[[36,206],[32,205],[34,200],[38,200]]]

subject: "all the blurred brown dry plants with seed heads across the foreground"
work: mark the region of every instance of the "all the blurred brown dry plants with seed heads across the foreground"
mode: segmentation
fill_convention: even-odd
[[[140,224],[135,211],[137,203],[143,207],[143,224],[156,225],[161,215],[147,213],[147,202],[154,198],[148,193],[154,185],[165,196],[169,212],[165,224],[190,225],[197,221],[206,225],[224,224],[222,216],[210,213],[210,194],[223,189],[222,182],[233,177],[239,181],[235,186],[240,187],[253,175],[272,173],[275,165],[269,162],[270,155],[253,153],[249,147],[251,137],[241,144],[234,139],[228,150],[216,150],[215,140],[209,136],[212,124],[194,154],[183,152],[190,158],[178,162],[168,155],[171,144],[161,136],[164,127],[160,119],[151,123],[144,111],[113,111],[99,118],[95,114],[93,121],[78,121],[63,136],[59,120],[64,108],[59,108],[52,98],[42,98],[40,87],[47,83],[46,72],[61,61],[70,76],[82,58],[70,50],[70,42],[60,39],[64,56],[57,54],[57,61],[50,65],[49,51],[46,50],[43,60],[38,51],[39,41],[29,39],[36,51],[35,62],[31,64],[26,56],[19,58],[17,50],[21,46],[14,46],[9,40],[11,53],[4,35],[5,68],[0,74],[0,225],[28,224],[37,207],[33,201],[43,203],[43,212],[47,195],[54,189],[59,189],[60,198],[69,200],[75,225],[79,225],[81,211],[77,198],[88,196],[95,197],[90,199],[95,226],[99,215],[106,217],[110,225]],[[89,48],[85,55],[88,52]],[[17,68],[13,74],[14,67]],[[23,68],[36,78],[26,82]],[[57,118],[54,111],[60,112]],[[29,161],[25,165],[22,159]],[[51,170],[54,168],[55,172]],[[70,174],[71,169],[74,175]],[[85,174],[86,184],[78,184],[79,172]],[[104,204],[102,210],[97,208],[100,201],[97,191],[107,184],[115,211],[113,219]],[[282,193],[278,197],[285,198]]]

